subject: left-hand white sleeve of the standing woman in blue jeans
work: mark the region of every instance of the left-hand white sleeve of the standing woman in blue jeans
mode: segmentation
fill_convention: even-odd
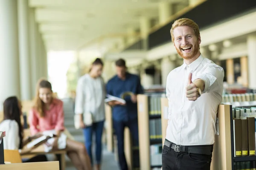
[[[82,79],[79,79],[76,87],[76,101],[75,101],[75,113],[82,114],[84,113],[84,84]]]

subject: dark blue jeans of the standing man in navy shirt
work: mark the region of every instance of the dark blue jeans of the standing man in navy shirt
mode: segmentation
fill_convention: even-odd
[[[116,137],[117,137],[117,150],[118,150],[118,160],[119,166],[121,170],[128,170],[127,162],[125,159],[125,151],[124,151],[124,130],[125,126],[130,129],[133,145],[139,145],[139,135],[138,135],[138,120],[128,120],[128,121],[115,121],[113,120],[113,126],[115,129]]]

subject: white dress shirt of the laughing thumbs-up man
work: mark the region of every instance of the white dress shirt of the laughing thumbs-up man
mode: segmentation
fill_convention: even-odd
[[[195,101],[186,98],[189,73],[192,82],[203,79],[202,95]],[[169,101],[166,139],[180,145],[208,145],[214,143],[218,105],[222,101],[224,70],[202,55],[189,65],[183,63],[172,70],[166,82]]]

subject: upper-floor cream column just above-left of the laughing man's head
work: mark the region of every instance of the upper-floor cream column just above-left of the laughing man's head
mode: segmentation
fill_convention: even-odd
[[[172,8],[169,2],[160,2],[158,8],[159,23],[164,24],[168,21],[169,17],[172,15]]]

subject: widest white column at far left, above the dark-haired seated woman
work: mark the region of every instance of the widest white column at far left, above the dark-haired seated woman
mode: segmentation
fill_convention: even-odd
[[[9,96],[20,98],[17,0],[0,0],[0,111]]]

